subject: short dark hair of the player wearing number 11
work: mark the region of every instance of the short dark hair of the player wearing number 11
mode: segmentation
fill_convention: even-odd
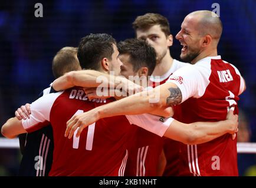
[[[90,34],[81,39],[77,58],[82,69],[99,70],[103,58],[111,60],[114,38],[107,33]]]

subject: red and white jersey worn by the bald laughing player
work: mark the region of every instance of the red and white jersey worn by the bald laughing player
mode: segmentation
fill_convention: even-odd
[[[225,120],[230,106],[238,113],[238,95],[245,89],[235,66],[221,56],[201,59],[173,73],[167,82],[182,92],[183,123]],[[201,145],[180,144],[180,176],[238,176],[237,141],[226,134]]]

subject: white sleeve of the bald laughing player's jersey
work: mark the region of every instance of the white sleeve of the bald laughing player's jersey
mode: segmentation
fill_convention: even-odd
[[[174,83],[182,93],[182,102],[194,97],[200,98],[204,95],[209,85],[211,69],[204,66],[183,66],[176,70],[166,82]]]

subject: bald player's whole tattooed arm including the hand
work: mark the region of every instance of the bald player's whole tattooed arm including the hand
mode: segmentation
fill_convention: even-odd
[[[166,105],[181,102],[181,95],[179,95],[179,97],[177,97],[176,94],[173,96],[172,93],[170,93],[170,88],[176,89],[176,93],[179,93],[179,89],[175,84],[166,82],[152,90],[145,90],[107,105],[99,106],[81,115],[73,116],[67,122],[65,136],[71,138],[77,127],[80,127],[77,132],[78,136],[84,127],[104,117],[152,113],[156,112],[157,109],[164,108]],[[172,116],[172,109],[170,110],[169,115]]]

